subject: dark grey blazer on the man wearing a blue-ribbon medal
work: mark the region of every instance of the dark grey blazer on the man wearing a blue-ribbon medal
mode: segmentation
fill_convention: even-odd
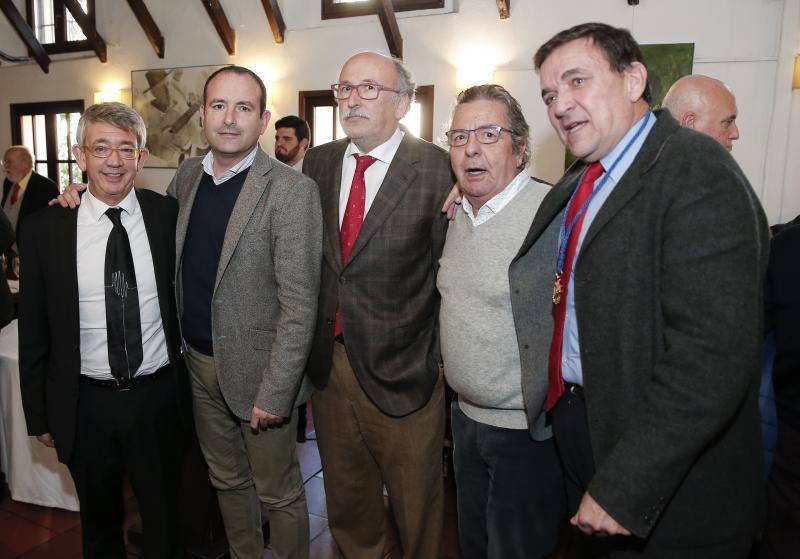
[[[588,491],[647,538],[645,554],[756,530],[768,250],[764,213],[730,154],[656,115],[573,276],[596,466]],[[584,167],[542,202],[519,259],[558,219]]]

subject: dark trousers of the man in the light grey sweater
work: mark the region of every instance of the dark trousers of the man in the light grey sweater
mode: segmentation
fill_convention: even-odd
[[[454,401],[453,465],[465,559],[533,559],[558,545],[564,483],[553,440],[473,421]]]

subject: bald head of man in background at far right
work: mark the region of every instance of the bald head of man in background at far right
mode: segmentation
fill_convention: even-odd
[[[728,151],[739,139],[736,98],[717,79],[700,74],[682,77],[667,91],[663,107],[681,126],[711,136]]]

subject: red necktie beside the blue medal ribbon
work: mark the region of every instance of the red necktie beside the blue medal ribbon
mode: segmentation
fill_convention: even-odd
[[[578,185],[572,203],[569,206],[569,213],[565,223],[571,223],[575,214],[583,207],[586,200],[592,194],[595,181],[603,174],[603,166],[599,161],[591,163],[583,174],[583,179]],[[544,406],[550,410],[556,405],[558,399],[564,394],[564,378],[561,375],[561,350],[564,345],[564,320],[567,316],[567,289],[569,278],[572,275],[572,264],[575,260],[575,251],[578,248],[578,239],[581,236],[581,226],[583,218],[586,216],[584,211],[579,217],[567,241],[567,255],[564,260],[564,269],[561,271],[561,299],[555,304],[555,320],[553,323],[553,340],[550,343],[550,384],[547,387],[547,398]]]

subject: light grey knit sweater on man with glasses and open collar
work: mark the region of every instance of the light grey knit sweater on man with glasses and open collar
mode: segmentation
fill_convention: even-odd
[[[475,227],[458,211],[447,231],[437,276],[444,372],[480,423],[528,428],[508,267],[549,190],[531,180],[489,221]]]

